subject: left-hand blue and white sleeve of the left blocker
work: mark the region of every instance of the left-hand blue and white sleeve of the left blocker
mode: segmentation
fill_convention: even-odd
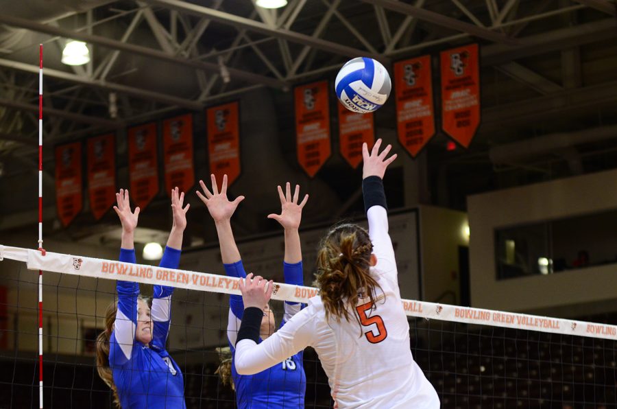
[[[135,263],[135,250],[120,249],[120,261]],[[131,358],[135,328],[137,325],[137,298],[139,284],[131,281],[116,281],[118,308],[114,331],[110,337],[109,364],[121,366]]]

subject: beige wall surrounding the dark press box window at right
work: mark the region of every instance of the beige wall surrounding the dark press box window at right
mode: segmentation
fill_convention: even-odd
[[[495,231],[504,227],[617,210],[616,180],[612,170],[470,196],[472,306],[516,312],[559,309],[568,315],[587,314],[601,304],[614,307],[617,264],[498,281],[494,242]],[[617,232],[617,226],[611,229]],[[567,228],[557,233],[562,241],[571,234]],[[616,235],[604,239],[615,245]]]

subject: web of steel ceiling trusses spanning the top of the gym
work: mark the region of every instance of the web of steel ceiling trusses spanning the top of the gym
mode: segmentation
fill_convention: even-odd
[[[120,3],[132,6],[128,10],[110,12],[114,3],[99,6],[97,12],[86,10],[77,14],[85,22],[77,28],[70,27],[65,16],[37,22],[1,11],[0,23],[45,34],[41,41],[57,47],[56,54],[60,39],[65,38],[86,41],[96,53],[95,62],[85,67],[45,69],[51,82],[46,98],[47,117],[53,117],[49,132],[61,140],[178,109],[198,111],[215,100],[262,86],[287,91],[295,83],[335,71],[356,56],[389,64],[427,49],[474,39],[483,44],[483,66],[495,67],[540,95],[560,93],[565,82],[549,80],[516,60],[617,37],[610,18],[616,8],[607,0],[564,1],[553,9],[547,9],[551,1],[538,0],[531,9],[529,3],[521,7],[521,2],[290,0],[285,9],[273,12],[259,8],[254,0],[211,0],[209,7],[180,0],[141,0]],[[597,10],[605,19],[524,35],[533,21],[569,16],[585,8]],[[115,29],[102,29],[110,26]],[[140,42],[144,36],[152,42]],[[34,130],[28,117],[36,108],[25,73],[36,73],[38,67],[13,58],[18,51],[8,49],[0,54],[0,89],[11,91],[0,98],[0,107],[4,107],[0,139],[12,142],[19,141],[14,136],[17,130],[24,138]],[[576,59],[574,51],[567,52],[568,58]],[[189,73],[184,80],[194,85],[194,91],[159,91],[158,84],[144,86],[124,80],[125,75],[144,69],[125,67],[132,56],[139,56],[155,70],[163,63],[178,67],[182,75]],[[572,84],[566,88],[576,82]],[[117,118],[108,117],[109,93],[117,96]],[[11,119],[15,116],[10,114],[17,111],[21,122]]]

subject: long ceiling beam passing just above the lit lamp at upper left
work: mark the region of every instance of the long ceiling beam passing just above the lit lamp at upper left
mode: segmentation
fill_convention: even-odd
[[[171,64],[182,65],[184,67],[191,67],[195,69],[202,69],[211,73],[219,73],[220,67],[213,62],[202,62],[197,60],[188,60],[180,56],[174,56],[173,54],[167,54],[165,51],[158,51],[141,45],[134,45],[130,43],[123,43],[119,40],[112,40],[110,38],[95,36],[93,34],[86,34],[82,32],[75,32],[72,30],[66,30],[60,27],[52,27],[51,25],[45,25],[37,23],[36,21],[20,19],[19,17],[8,16],[6,14],[0,14],[0,23],[11,25],[13,27],[25,28],[34,32],[40,32],[49,34],[51,36],[60,36],[64,38],[73,38],[75,40],[85,41],[86,43],[101,45],[110,49],[119,49],[120,51],[126,51],[131,54],[138,54],[148,58],[155,58],[156,60],[162,60],[170,62]],[[242,71],[229,67],[229,72],[232,79],[243,80],[247,82],[263,84],[278,89],[287,88],[287,84],[276,78],[267,77],[252,72]]]

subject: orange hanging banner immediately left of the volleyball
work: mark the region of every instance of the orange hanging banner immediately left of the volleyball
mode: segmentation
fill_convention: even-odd
[[[312,178],[330,157],[328,82],[296,86],[293,92],[298,163]]]

